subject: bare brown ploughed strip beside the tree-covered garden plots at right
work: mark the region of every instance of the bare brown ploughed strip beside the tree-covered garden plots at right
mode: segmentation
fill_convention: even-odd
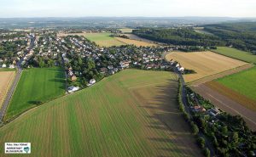
[[[236,101],[212,90],[210,87],[207,87],[206,84],[193,86],[192,89],[195,93],[199,93],[202,97],[209,99],[212,104],[216,105],[219,109],[231,115],[241,115],[244,121],[247,122],[247,126],[253,131],[256,131],[256,112],[253,110],[247,109],[241,104],[236,103]]]

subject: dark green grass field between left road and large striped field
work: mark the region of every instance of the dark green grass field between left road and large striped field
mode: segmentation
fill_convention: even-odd
[[[24,70],[4,120],[63,95],[65,93],[64,78],[63,70],[58,67]]]

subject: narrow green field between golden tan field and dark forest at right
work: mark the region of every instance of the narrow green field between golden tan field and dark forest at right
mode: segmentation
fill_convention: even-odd
[[[236,48],[218,47],[212,51],[234,59],[240,59],[245,62],[256,64],[256,55],[238,50]]]

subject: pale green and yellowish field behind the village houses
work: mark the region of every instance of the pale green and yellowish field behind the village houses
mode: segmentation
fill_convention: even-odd
[[[96,42],[100,47],[111,47],[126,45],[124,42],[119,42],[111,33],[84,33],[84,36],[91,42]]]

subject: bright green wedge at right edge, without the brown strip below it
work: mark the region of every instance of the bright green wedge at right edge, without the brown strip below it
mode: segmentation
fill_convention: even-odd
[[[218,79],[218,82],[237,93],[256,100],[256,67]]]

